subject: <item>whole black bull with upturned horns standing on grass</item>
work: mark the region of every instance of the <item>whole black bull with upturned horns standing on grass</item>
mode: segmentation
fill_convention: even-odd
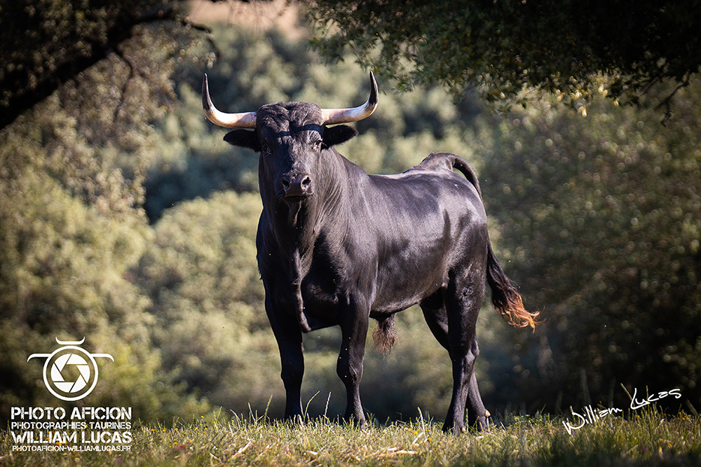
[[[433,153],[403,174],[368,175],[332,147],[355,136],[346,125],[374,111],[377,91],[355,109],[268,104],[226,114],[203,105],[212,122],[233,130],[225,141],[260,153],[263,200],[257,234],[265,308],[280,349],[285,417],[301,417],[302,333],[340,326],[337,371],[346,386],[346,418],[365,423],[360,378],[369,318],[388,349],[395,313],[419,304],[448,350],[453,393],[444,430],[486,427],[475,378],[475,323],[485,281],[498,312],[534,326],[519,293],[494,256],[477,176],[456,155]],[[458,175],[453,169],[461,172]]]

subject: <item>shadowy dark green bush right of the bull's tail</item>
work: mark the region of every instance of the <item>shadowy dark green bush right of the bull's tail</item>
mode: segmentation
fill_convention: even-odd
[[[543,102],[485,148],[493,232],[545,319],[518,352],[532,407],[625,406],[620,383],[701,401],[701,82],[678,96],[667,127],[654,109]]]

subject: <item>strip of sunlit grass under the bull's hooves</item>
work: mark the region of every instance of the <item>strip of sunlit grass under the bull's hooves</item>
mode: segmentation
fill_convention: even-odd
[[[363,430],[328,419],[202,419],[135,428],[130,452],[81,453],[10,452],[11,435],[2,431],[0,466],[701,466],[697,414],[638,410],[572,435],[563,420],[507,417],[486,433],[456,436],[423,419]]]

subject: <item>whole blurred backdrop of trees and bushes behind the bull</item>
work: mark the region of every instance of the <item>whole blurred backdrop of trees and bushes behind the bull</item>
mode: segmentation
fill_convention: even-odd
[[[221,6],[226,21],[209,32],[170,10],[158,21],[143,13],[118,46],[0,130],[1,419],[12,405],[57,405],[27,356],[83,336],[115,358],[87,405],[165,423],[217,407],[282,413],[255,262],[257,157],[203,117],[202,74],[219,108],[249,111],[358,104],[367,72],[353,55],[325,62],[299,23],[250,19],[278,13]],[[626,407],[620,384],[679,387],[683,400],[665,402],[701,407],[701,81],[662,82],[638,106],[602,93],[575,112],[543,95],[502,116],[471,92],[456,102],[442,88],[379,85],[378,110],[339,151],[374,173],[432,151],[469,160],[498,256],[545,320],[529,333],[485,306],[477,371],[489,410]],[[662,125],[655,105],[673,92]],[[366,410],[442,417],[447,352],[417,309],[397,330],[388,357],[368,346]],[[311,415],[343,412],[338,346],[335,329],[305,337]]]

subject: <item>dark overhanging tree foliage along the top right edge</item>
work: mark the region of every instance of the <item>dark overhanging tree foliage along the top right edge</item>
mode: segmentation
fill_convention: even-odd
[[[698,0],[318,0],[309,16],[327,57],[350,48],[402,87],[477,85],[492,103],[526,104],[529,90],[576,106],[599,92],[636,102],[701,66]]]

